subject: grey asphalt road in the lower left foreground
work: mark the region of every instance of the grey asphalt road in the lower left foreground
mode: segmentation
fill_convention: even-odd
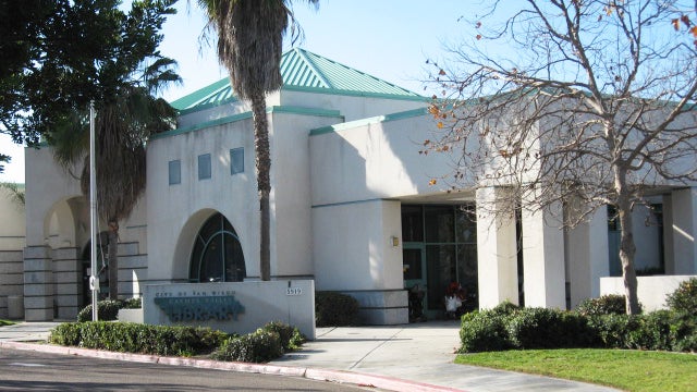
[[[0,350],[0,391],[360,390],[366,389],[294,377]]]

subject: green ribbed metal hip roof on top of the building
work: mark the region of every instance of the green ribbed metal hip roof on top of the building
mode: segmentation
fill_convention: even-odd
[[[283,89],[424,99],[416,93],[299,48],[291,49],[281,57],[281,76]],[[223,78],[176,99],[171,105],[180,111],[188,112],[235,100],[229,79]]]

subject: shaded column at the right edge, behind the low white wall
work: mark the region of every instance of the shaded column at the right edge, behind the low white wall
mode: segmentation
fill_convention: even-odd
[[[673,273],[697,272],[697,187],[673,191],[672,224],[667,228],[673,237]]]

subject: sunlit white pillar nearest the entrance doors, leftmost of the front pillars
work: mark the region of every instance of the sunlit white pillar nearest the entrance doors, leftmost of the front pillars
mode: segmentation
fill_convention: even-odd
[[[477,269],[479,308],[490,309],[504,301],[518,303],[515,217],[497,216],[497,193],[501,188],[477,189]],[[484,211],[481,205],[487,205]]]

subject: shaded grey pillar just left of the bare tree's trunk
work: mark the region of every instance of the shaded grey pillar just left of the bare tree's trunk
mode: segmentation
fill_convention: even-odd
[[[600,278],[610,274],[608,209],[598,208],[589,221],[567,230],[564,243],[573,309],[585,298],[600,296]]]

